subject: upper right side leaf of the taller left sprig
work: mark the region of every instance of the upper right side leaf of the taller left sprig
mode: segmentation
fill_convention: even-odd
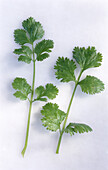
[[[54,47],[54,43],[52,40],[42,40],[35,47],[35,53],[37,54],[37,60],[43,61],[44,59],[49,57],[49,52]]]

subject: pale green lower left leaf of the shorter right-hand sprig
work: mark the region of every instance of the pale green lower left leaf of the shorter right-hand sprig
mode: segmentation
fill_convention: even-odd
[[[58,109],[58,105],[53,103],[47,103],[43,106],[41,113],[43,115],[43,118],[41,119],[43,126],[51,131],[60,129],[60,124],[66,117],[66,113]]]

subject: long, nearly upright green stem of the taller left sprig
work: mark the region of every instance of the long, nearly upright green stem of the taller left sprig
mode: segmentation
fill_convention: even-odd
[[[32,44],[32,51],[33,51],[33,81],[32,81],[32,92],[31,92],[31,98],[30,98],[30,106],[29,106],[29,115],[28,115],[28,122],[27,122],[27,131],[26,131],[26,139],[25,139],[25,145],[21,152],[22,156],[24,157],[25,151],[27,149],[28,144],[28,136],[29,136],[29,129],[30,129],[30,117],[31,117],[31,109],[32,109],[32,101],[33,101],[33,95],[34,95],[34,85],[35,85],[35,54],[34,54],[34,47]]]

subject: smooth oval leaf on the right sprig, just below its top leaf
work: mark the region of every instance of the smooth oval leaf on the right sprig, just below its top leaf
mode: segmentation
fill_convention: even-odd
[[[84,93],[95,94],[104,90],[104,84],[94,76],[86,76],[85,79],[78,83]]]

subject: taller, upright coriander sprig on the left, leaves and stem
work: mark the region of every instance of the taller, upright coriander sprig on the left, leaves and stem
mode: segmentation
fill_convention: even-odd
[[[25,78],[17,77],[14,79],[12,86],[15,90],[14,96],[21,100],[29,101],[29,114],[26,131],[25,145],[22,150],[24,156],[29,136],[30,117],[32,104],[35,101],[47,101],[47,99],[54,99],[58,94],[58,89],[53,84],[47,84],[45,88],[39,86],[35,89],[35,67],[37,61],[43,61],[49,57],[49,53],[52,51],[54,43],[52,40],[41,40],[36,43],[36,40],[40,40],[44,36],[44,30],[39,22],[36,22],[32,17],[22,22],[23,29],[16,29],[14,31],[15,42],[21,45],[21,48],[15,49],[14,53],[19,55],[18,61],[25,62],[27,64],[33,63],[33,78],[32,86],[30,86]],[[26,45],[25,45],[26,44]],[[29,94],[31,95],[29,97]]]

